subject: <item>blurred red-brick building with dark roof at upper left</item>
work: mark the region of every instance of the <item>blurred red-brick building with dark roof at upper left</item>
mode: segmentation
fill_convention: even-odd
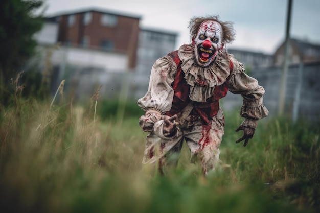
[[[92,8],[48,19],[59,23],[58,41],[63,45],[125,53],[127,67],[136,66],[140,16]]]

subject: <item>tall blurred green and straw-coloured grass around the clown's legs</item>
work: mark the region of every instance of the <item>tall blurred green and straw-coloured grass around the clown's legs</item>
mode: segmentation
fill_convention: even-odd
[[[2,108],[1,212],[320,210],[318,125],[261,120],[243,147],[235,144],[242,119],[225,112],[221,169],[204,177],[184,146],[176,170],[161,177],[142,170],[139,115],[110,111],[102,119],[96,103],[51,105],[16,94]]]

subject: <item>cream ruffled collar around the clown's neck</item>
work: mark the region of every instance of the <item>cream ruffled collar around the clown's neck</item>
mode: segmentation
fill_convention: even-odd
[[[204,102],[213,95],[215,86],[223,84],[230,75],[228,54],[225,50],[217,54],[213,65],[200,67],[194,61],[194,46],[184,44],[178,50],[182,61],[181,68],[185,79],[190,85],[192,101]]]

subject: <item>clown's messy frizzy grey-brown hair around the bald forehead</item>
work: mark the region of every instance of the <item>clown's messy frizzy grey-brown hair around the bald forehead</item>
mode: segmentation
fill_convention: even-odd
[[[206,17],[193,17],[189,21],[188,28],[190,29],[190,39],[196,37],[201,23],[204,21],[217,21],[222,27],[222,42],[232,43],[235,40],[236,31],[233,28],[233,22],[219,20],[219,15],[212,15]]]

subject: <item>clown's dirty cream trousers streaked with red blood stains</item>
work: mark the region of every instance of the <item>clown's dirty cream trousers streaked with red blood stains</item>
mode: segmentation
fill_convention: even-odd
[[[158,163],[162,173],[167,167],[177,165],[183,141],[191,152],[191,163],[199,161],[204,174],[213,170],[219,163],[219,147],[224,134],[224,116],[221,108],[209,123],[201,117],[187,117],[183,125],[178,126],[174,137],[165,138],[152,131],[146,139],[143,164]],[[157,128],[157,127],[154,127]]]

